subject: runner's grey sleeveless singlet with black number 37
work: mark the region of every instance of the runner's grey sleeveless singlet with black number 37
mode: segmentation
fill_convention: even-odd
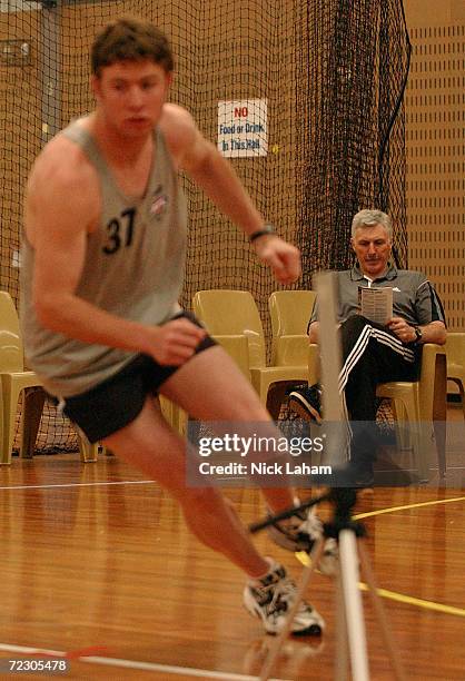
[[[76,294],[113,315],[159,324],[179,309],[186,257],[186,201],[159,130],[144,198],[118,188],[91,135],[72,122],[62,134],[79,145],[95,166],[102,210],[88,235],[83,270]],[[28,365],[59,397],[82,393],[116,374],[136,353],[90,345],[47,329],[32,306],[34,250],[22,240],[20,317]]]

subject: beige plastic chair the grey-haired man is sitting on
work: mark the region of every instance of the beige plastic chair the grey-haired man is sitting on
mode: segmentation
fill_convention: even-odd
[[[317,346],[314,344],[310,344],[309,372],[311,381],[319,375]],[[390,399],[394,416],[399,423],[407,421],[412,424],[414,458],[423,481],[429,480],[434,435],[439,476],[443,478],[446,473],[447,414],[445,346],[434,343],[423,346],[419,381],[382,383],[376,394]],[[399,434],[397,437],[399,438]]]

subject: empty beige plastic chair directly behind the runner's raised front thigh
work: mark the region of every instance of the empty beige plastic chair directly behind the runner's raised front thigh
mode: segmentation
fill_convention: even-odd
[[[194,313],[208,332],[225,345],[227,338],[245,336],[251,384],[271,416],[277,418],[286,386],[306,382],[308,365],[266,366],[265,336],[254,297],[246,290],[200,290],[194,296]],[[304,371],[305,368],[305,371]],[[270,387],[273,386],[273,391]]]

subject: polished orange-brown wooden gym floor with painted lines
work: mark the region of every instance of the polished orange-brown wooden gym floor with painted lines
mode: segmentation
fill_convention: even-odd
[[[462,421],[457,407],[448,417]],[[357,501],[399,659],[418,681],[465,679],[462,426],[447,451],[457,487],[376,488]],[[245,523],[264,516],[258,492],[227,494]],[[14,458],[0,468],[0,529],[1,678],[8,660],[47,652],[66,655],[68,679],[258,675],[274,639],[243,608],[243,575],[199,545],[157,484],[117,457],[86,465],[76,454]],[[256,541],[298,578],[296,556],[265,533]],[[308,600],[327,630],[320,639],[289,639],[276,679],[333,678],[334,582],[317,574]],[[372,679],[393,679],[366,594],[363,601]]]

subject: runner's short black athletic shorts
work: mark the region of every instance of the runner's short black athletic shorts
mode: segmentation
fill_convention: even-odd
[[[197,326],[201,324],[189,313],[179,313],[174,318],[186,317]],[[196,354],[216,345],[206,336],[196,347]],[[149,355],[137,355],[120,372],[106,378],[95,387],[65,397],[61,401],[66,414],[91,442],[99,442],[120,431],[142,411],[148,394],[156,395],[160,385],[179,366],[162,366]]]

